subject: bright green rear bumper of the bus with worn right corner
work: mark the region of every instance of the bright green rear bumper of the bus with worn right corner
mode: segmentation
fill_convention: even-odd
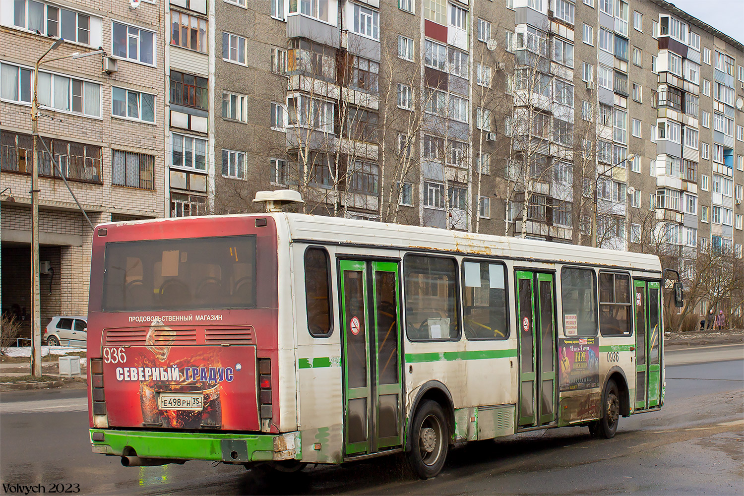
[[[94,441],[93,433],[103,434]],[[97,437],[100,437],[100,434]],[[91,429],[94,453],[173,460],[214,460],[248,463],[301,460],[299,432],[285,434],[208,434],[170,431]],[[126,453],[125,453],[126,448]],[[134,450],[132,453],[131,450]]]

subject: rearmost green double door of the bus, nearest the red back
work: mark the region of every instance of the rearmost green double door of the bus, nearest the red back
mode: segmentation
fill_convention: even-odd
[[[398,264],[340,260],[344,451],[402,444]]]

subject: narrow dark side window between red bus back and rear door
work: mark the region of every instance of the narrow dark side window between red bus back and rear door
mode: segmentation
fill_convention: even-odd
[[[305,299],[307,329],[310,335],[327,337],[331,333],[330,260],[322,248],[305,251]]]

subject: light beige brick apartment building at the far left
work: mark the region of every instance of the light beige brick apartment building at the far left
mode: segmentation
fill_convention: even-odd
[[[92,228],[75,198],[93,225],[164,215],[162,19],[146,2],[0,2],[1,306],[25,318],[26,332],[34,66],[65,40],[42,59],[37,83],[45,326],[54,315],[87,313]]]

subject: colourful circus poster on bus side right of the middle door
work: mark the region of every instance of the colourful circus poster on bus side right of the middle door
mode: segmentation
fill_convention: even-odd
[[[560,339],[558,343],[561,391],[600,387],[597,338]]]

